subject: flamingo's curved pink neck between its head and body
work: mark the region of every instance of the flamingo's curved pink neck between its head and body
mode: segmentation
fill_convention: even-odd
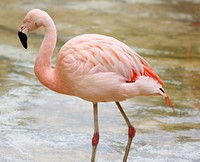
[[[44,17],[42,26],[45,28],[45,35],[35,61],[34,72],[44,86],[56,91],[55,70],[51,67],[57,39],[56,28],[49,16]]]

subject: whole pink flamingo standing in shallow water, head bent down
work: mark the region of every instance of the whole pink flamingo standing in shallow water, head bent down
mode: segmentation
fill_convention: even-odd
[[[56,46],[56,27],[44,11],[33,9],[24,18],[18,36],[27,48],[28,33],[43,26],[44,39],[37,55],[34,71],[38,80],[49,89],[78,96],[93,103],[94,135],[91,162],[95,161],[99,142],[98,102],[115,101],[128,125],[128,143],[123,162],[127,161],[135,128],[119,101],[140,95],[162,95],[174,109],[163,90],[164,82],[151,66],[124,43],[108,36],[85,34],[77,36],[60,49],[55,68],[51,56]]]

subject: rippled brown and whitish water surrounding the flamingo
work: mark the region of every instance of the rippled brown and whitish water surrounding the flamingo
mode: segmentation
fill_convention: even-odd
[[[92,104],[54,93],[35,78],[43,30],[24,50],[17,30],[31,8],[45,9],[58,30],[55,53],[83,33],[113,36],[140,53],[167,84],[176,114],[161,97],[122,103],[137,129],[129,161],[200,161],[200,3],[192,1],[8,1],[0,20],[0,161],[89,161]],[[53,60],[55,60],[54,55]],[[53,61],[54,62],[54,61]],[[121,162],[127,128],[114,103],[99,105],[97,162]]]

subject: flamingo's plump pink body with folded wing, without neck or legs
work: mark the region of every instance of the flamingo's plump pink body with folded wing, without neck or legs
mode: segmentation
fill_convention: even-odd
[[[68,41],[58,54],[55,73],[62,86],[69,87],[58,90],[60,93],[94,103],[156,94],[163,84],[148,63],[131,48],[114,38],[97,34],[81,35]]]

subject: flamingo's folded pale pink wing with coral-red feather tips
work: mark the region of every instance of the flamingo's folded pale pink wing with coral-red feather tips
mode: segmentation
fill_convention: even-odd
[[[73,62],[74,66],[70,68],[76,67],[73,71],[80,74],[115,72],[126,82],[134,82],[138,76],[145,75],[164,85],[141,56],[112,37],[96,34],[78,36],[68,41],[62,50],[67,53],[68,62]]]

